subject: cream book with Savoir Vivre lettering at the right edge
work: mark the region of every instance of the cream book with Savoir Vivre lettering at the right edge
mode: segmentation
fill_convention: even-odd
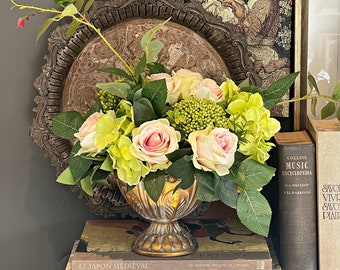
[[[316,144],[319,270],[340,269],[340,121],[307,121]]]

